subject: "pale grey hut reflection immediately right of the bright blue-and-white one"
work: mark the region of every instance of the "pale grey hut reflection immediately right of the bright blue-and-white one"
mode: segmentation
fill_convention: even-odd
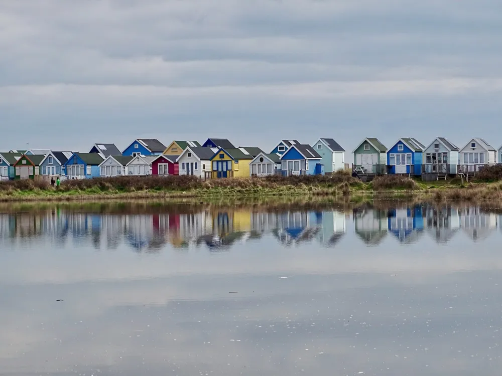
[[[433,206],[425,208],[424,228],[440,244],[446,244],[459,228],[458,214],[451,206]]]

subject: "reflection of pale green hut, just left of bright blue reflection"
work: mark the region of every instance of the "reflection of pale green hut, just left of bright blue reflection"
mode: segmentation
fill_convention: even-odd
[[[372,208],[354,209],[353,219],[355,233],[367,246],[379,245],[387,235],[386,212]]]

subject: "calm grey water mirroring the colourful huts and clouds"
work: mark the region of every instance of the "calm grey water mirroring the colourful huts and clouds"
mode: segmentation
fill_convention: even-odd
[[[0,374],[499,375],[501,228],[464,205],[4,207]]]

